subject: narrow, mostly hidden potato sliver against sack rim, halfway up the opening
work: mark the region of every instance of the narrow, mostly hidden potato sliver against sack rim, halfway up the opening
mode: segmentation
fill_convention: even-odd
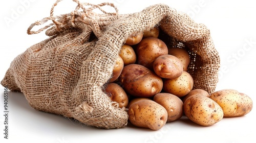
[[[115,80],[118,79],[118,77],[120,76],[123,70],[123,67],[124,67],[123,59],[118,55],[116,59],[116,64],[114,65],[113,74],[112,74],[112,78],[110,79],[110,82],[114,82]]]

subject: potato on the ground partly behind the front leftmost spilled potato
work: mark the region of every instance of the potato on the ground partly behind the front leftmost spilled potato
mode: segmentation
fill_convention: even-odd
[[[170,93],[157,93],[153,99],[162,105],[168,113],[167,122],[176,121],[183,115],[183,102],[180,98]]]

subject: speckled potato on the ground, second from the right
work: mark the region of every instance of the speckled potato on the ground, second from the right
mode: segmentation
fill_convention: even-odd
[[[183,104],[189,120],[202,126],[211,126],[223,118],[223,110],[214,100],[200,95],[189,97]]]

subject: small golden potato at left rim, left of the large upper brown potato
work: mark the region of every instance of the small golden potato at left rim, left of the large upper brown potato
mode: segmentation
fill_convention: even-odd
[[[119,56],[123,59],[123,64],[133,64],[136,62],[136,54],[132,46],[123,44]]]

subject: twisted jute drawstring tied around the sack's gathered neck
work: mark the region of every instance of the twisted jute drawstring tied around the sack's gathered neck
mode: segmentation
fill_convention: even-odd
[[[80,3],[78,0],[72,0],[73,2],[77,3],[77,6],[75,8],[74,11],[67,13],[67,14],[61,14],[61,15],[57,15],[54,16],[53,12],[54,12],[54,8],[57,6],[57,4],[59,2],[61,2],[62,0],[57,0],[50,11],[50,16],[49,17],[45,17],[41,20],[37,20],[34,23],[32,23],[28,30],[27,33],[28,34],[38,34],[52,26],[56,26],[56,30],[57,31],[61,31],[62,28],[67,28],[67,24],[68,21],[71,20],[71,24],[73,27],[75,27],[74,22],[75,21],[81,21],[83,23],[86,23],[94,32],[94,34],[97,37],[100,37],[102,35],[102,32],[100,30],[99,27],[99,23],[97,21],[97,18],[95,17],[95,14],[93,13],[94,9],[99,9],[101,12],[103,12],[103,14],[105,15],[117,15],[118,14],[118,9],[116,8],[116,6],[112,3],[101,3],[98,5],[94,5],[94,4],[90,4],[90,3]],[[86,8],[85,6],[90,6],[89,8]],[[110,12],[106,12],[104,11],[101,7],[103,6],[110,6],[113,7],[115,9],[114,13],[110,13]],[[82,9],[82,11],[79,11],[79,9]],[[40,28],[37,31],[31,31],[33,27],[35,26],[39,26],[39,25],[43,25],[44,23],[46,23],[47,21],[52,20],[53,23],[50,23],[49,25]]]

